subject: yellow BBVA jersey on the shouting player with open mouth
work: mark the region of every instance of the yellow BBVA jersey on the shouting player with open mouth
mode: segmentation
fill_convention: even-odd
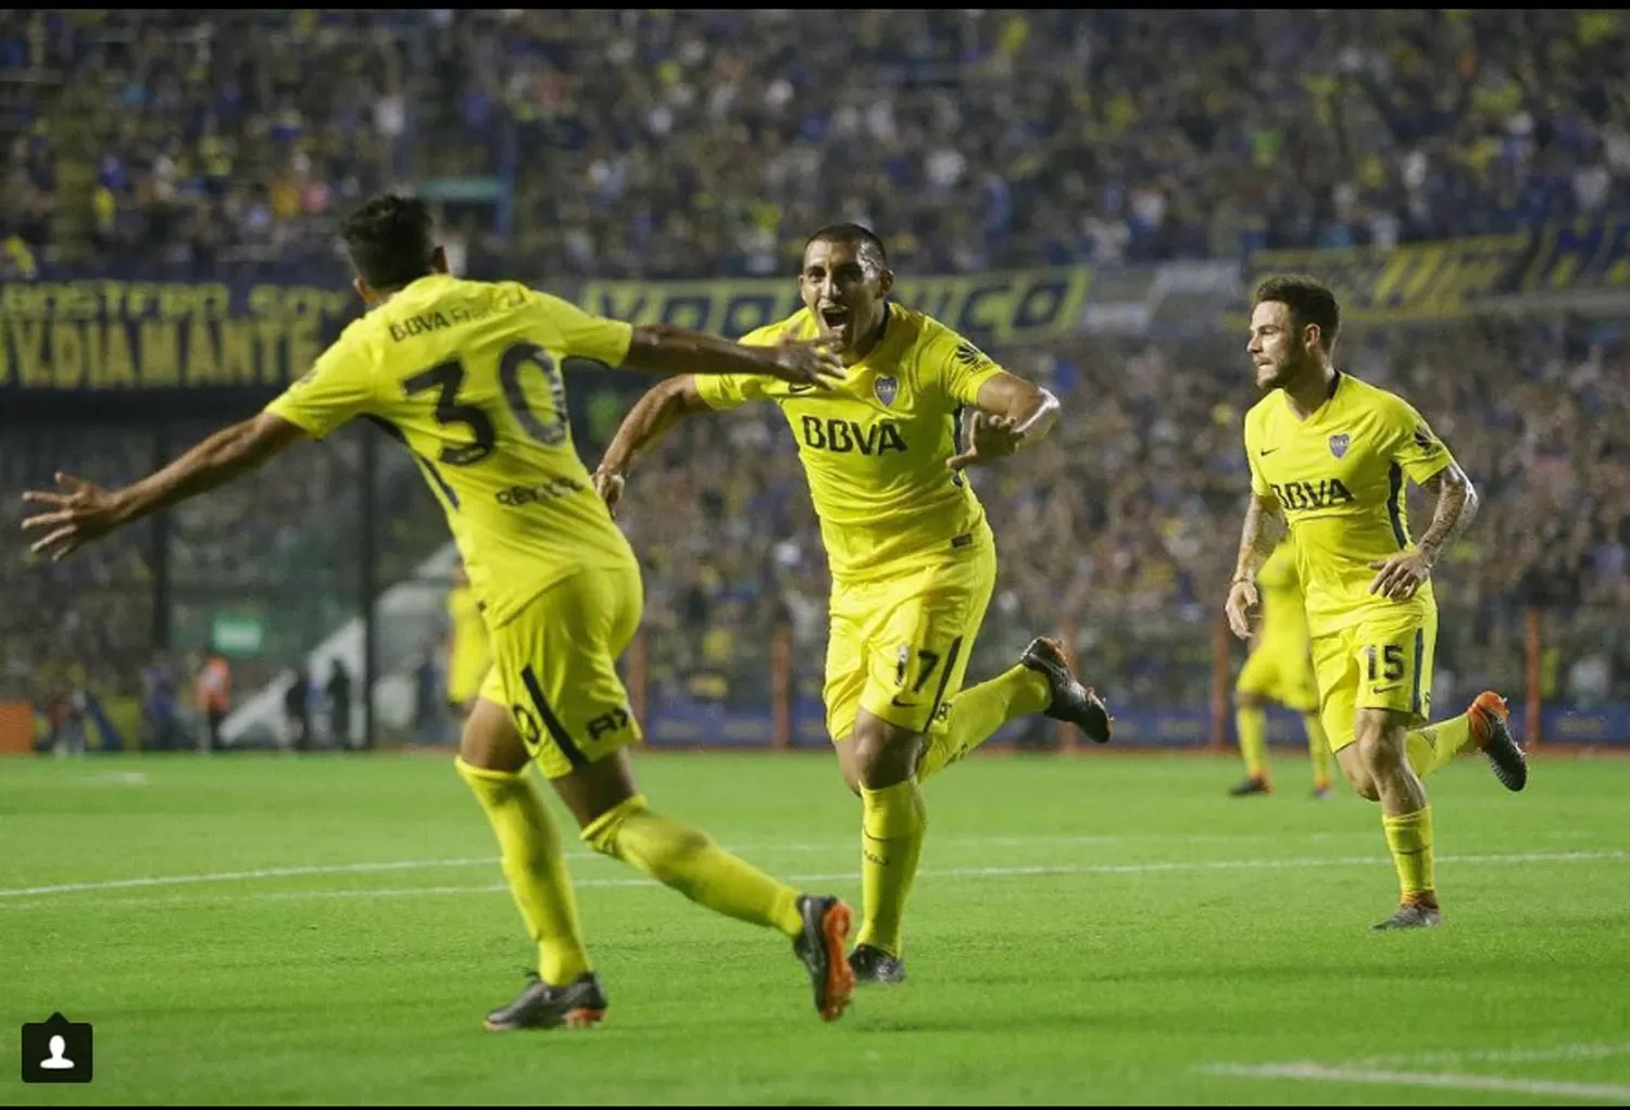
[[[742,342],[771,346],[789,331],[799,339],[818,334],[805,308]],[[859,580],[924,551],[989,540],[985,507],[945,460],[962,450],[963,406],[998,373],[1001,367],[950,328],[888,305],[877,346],[828,391],[747,375],[699,377],[696,388],[716,409],[760,399],[781,406],[831,572]]]

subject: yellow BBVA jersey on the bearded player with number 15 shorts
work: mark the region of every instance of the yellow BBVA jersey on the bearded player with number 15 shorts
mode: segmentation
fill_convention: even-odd
[[[1301,421],[1275,390],[1245,414],[1245,455],[1252,492],[1276,497],[1289,520],[1312,636],[1436,606],[1431,582],[1402,603],[1369,592],[1369,564],[1412,544],[1403,479],[1423,484],[1454,461],[1403,398],[1338,373]]]

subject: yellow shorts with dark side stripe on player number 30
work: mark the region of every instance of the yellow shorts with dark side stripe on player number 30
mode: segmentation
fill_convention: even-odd
[[[509,709],[544,777],[559,779],[639,743],[616,673],[644,608],[639,567],[585,567],[492,629],[486,701]]]

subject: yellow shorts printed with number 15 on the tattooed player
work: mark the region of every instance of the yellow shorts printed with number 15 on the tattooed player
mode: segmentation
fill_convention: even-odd
[[[1412,725],[1431,719],[1434,605],[1368,616],[1351,628],[1315,636],[1312,644],[1319,719],[1332,751],[1353,743],[1353,716],[1359,709],[1394,709],[1408,714]]]

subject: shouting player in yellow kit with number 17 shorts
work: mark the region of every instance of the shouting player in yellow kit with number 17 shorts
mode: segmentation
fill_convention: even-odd
[[[901,921],[927,828],[919,781],[1022,714],[1071,720],[1099,743],[1110,737],[1104,704],[1053,639],[957,696],[996,580],[996,541],[963,468],[1038,440],[1058,401],[944,324],[888,303],[892,285],[875,235],[817,231],[799,275],[804,310],[742,342],[831,339],[848,365],[843,383],[820,393],[763,377],[665,381],[628,414],[595,471],[615,505],[629,465],[681,416],[768,399],[792,427],[831,564],[823,699],[843,777],[862,804],[864,906],[849,963],[869,983],[905,978]],[[965,407],[975,414],[962,443]]]

